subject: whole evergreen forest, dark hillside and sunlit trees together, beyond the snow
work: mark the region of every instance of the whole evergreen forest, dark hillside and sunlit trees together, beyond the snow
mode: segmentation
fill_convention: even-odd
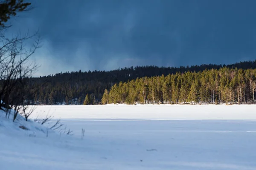
[[[253,69],[256,68],[256,60],[251,62],[239,62],[232,65],[195,65],[191,67],[156,67],[156,66],[141,66],[131,68],[121,68],[119,70],[112,71],[87,71],[82,72],[67,72],[58,73],[55,75],[49,75],[44,77],[30,77],[25,78],[26,89],[28,91],[36,91],[30,96],[30,103],[39,105],[49,104],[83,104],[83,99],[86,94],[90,95],[93,100],[91,103],[102,104],[106,103],[152,103],[152,101],[160,103],[178,103],[178,102],[215,102],[216,94],[217,103],[224,101],[224,88],[227,85],[227,81],[233,79],[233,74],[222,73],[223,70],[236,70],[235,68],[242,69],[242,74],[248,75],[246,81],[247,96],[250,91],[250,98],[253,98]],[[208,75],[213,68],[215,71],[221,71],[220,74]],[[251,69],[252,68],[252,69]],[[184,74],[186,76],[184,77]],[[198,73],[198,74],[196,74]],[[199,76],[199,73],[200,76]],[[173,74],[173,75],[172,75]],[[237,74],[239,75],[239,74]],[[198,76],[198,77],[196,77]],[[230,76],[230,77],[228,77]],[[195,93],[197,100],[192,99],[192,82],[196,79]],[[230,79],[230,80],[228,80]],[[236,79],[236,78],[235,78]],[[233,80],[235,81],[235,80]],[[237,76],[237,82],[244,82],[244,78],[241,73]],[[122,83],[119,83],[122,82]],[[234,82],[234,83],[235,83]],[[198,84],[196,84],[198,83]],[[229,82],[230,83],[230,82]],[[233,83],[233,84],[234,84]],[[115,85],[116,84],[116,85]],[[234,84],[237,88],[237,85]],[[244,94],[244,85],[241,85],[241,91],[239,92],[240,100],[246,100],[240,93]],[[182,87],[184,86],[184,87]],[[182,87],[182,89],[181,89]],[[233,87],[233,88],[234,88]],[[39,90],[38,90],[39,89]],[[105,89],[108,91],[105,94]],[[111,90],[112,89],[112,90]],[[181,91],[180,91],[181,90]],[[233,89],[235,90],[235,89]],[[236,89],[236,94],[237,94]],[[254,88],[255,92],[255,88]],[[103,98],[103,95],[105,97]],[[190,94],[190,96],[189,96]],[[214,95],[213,95],[214,94]],[[221,100],[219,97],[221,96]],[[212,99],[210,97],[212,96]],[[247,97],[246,96],[246,97]],[[242,99],[243,98],[243,99]],[[101,101],[102,99],[102,101]],[[160,99],[160,100],[159,100]]]

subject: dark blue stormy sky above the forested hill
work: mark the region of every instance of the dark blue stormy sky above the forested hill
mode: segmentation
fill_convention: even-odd
[[[255,0],[40,0],[12,21],[39,29],[37,75],[256,59]]]

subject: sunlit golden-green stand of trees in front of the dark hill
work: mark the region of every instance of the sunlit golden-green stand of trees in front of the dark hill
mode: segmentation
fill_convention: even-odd
[[[220,68],[177,72],[119,82],[107,89],[102,103],[254,103],[256,69]]]

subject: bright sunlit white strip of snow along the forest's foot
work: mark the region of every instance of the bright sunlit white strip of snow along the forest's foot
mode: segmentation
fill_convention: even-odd
[[[49,105],[36,106],[31,117],[61,119],[218,119],[256,120],[256,105]]]

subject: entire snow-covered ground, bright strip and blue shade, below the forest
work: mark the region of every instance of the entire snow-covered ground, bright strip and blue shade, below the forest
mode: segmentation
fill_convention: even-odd
[[[74,136],[0,111],[0,170],[256,170],[256,105],[38,106],[32,117],[47,114]]]

